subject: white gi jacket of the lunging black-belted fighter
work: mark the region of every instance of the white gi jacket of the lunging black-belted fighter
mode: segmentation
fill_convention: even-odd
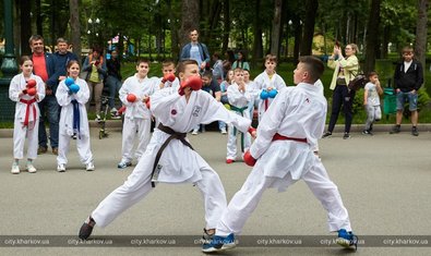
[[[160,123],[176,132],[188,133],[197,124],[207,124],[217,120],[232,123],[247,133],[251,121],[228,111],[212,95],[204,90],[192,92],[189,102],[177,89],[165,88],[156,92],[151,98],[152,112]],[[145,159],[154,159],[161,144],[169,134],[154,130],[149,145],[146,147]],[[151,161],[151,167],[154,160]],[[158,182],[196,182],[202,179],[201,167],[207,167],[205,160],[179,139],[172,139],[161,154],[158,162],[161,166]],[[149,167],[148,166],[148,167]]]

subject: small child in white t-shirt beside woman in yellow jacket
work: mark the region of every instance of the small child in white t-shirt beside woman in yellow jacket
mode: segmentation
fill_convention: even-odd
[[[382,86],[380,86],[379,75],[376,72],[370,72],[368,82],[363,88],[363,107],[367,110],[366,127],[362,134],[373,135],[373,123],[382,119],[382,110],[380,109],[380,96],[383,94]]]

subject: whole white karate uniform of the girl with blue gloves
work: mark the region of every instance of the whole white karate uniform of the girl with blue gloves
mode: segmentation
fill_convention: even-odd
[[[61,106],[60,123],[59,123],[59,147],[57,163],[68,163],[68,153],[70,139],[73,134],[76,134],[76,149],[80,155],[81,162],[87,164],[93,161],[93,154],[89,145],[89,127],[88,118],[85,103],[89,99],[89,89],[87,83],[82,78],[76,78],[75,84],[80,86],[76,94],[69,94],[69,88],[64,84],[64,80],[60,82],[56,98]],[[73,129],[73,103],[72,100],[77,101],[80,112],[80,131]]]

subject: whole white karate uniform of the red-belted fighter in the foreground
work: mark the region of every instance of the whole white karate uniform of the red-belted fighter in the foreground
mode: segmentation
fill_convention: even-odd
[[[300,83],[279,92],[263,115],[258,137],[250,147],[251,156],[258,161],[223,214],[217,224],[218,235],[240,233],[266,188],[277,187],[284,191],[300,179],[327,211],[330,230],[351,231],[338,188],[311,150],[323,134],[325,118],[326,99],[319,93],[318,86]],[[273,142],[276,133],[307,138],[307,143]]]

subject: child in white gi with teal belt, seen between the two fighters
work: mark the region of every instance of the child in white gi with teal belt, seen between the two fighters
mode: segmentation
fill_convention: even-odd
[[[250,111],[248,111],[248,109],[252,96],[247,92],[243,70],[239,68],[234,70],[234,83],[227,88],[227,95],[230,103],[230,111],[251,120]],[[237,158],[238,131],[236,127],[234,127],[232,124],[230,124],[228,132],[229,135],[227,141],[226,163],[232,163]],[[243,154],[250,147],[251,144],[250,134],[241,133],[240,143],[241,143],[241,154]]]

